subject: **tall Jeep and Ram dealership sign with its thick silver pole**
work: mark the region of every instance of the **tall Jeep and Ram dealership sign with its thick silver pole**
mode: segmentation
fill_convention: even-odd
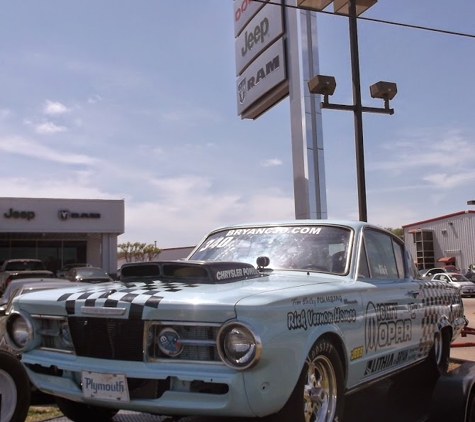
[[[294,7],[283,7],[285,5]],[[237,109],[256,119],[290,97],[295,217],[327,218],[316,13],[296,0],[234,0]]]

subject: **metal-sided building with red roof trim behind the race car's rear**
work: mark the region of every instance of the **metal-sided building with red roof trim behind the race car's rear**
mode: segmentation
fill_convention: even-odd
[[[475,211],[460,211],[402,227],[418,269],[475,263]]]

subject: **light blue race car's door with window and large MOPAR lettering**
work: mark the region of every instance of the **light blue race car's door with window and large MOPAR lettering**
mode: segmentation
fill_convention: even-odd
[[[402,242],[377,229],[364,231],[359,280],[364,309],[363,381],[378,378],[417,359],[422,335],[420,286],[409,276]]]

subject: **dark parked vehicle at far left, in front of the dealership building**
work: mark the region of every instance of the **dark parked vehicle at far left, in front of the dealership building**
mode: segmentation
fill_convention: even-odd
[[[8,285],[19,278],[54,277],[39,259],[7,259],[0,268],[0,295]]]

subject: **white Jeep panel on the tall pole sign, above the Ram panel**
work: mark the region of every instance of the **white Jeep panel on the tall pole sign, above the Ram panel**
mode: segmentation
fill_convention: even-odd
[[[283,34],[282,6],[265,5],[235,40],[236,74],[241,75],[254,59]]]

